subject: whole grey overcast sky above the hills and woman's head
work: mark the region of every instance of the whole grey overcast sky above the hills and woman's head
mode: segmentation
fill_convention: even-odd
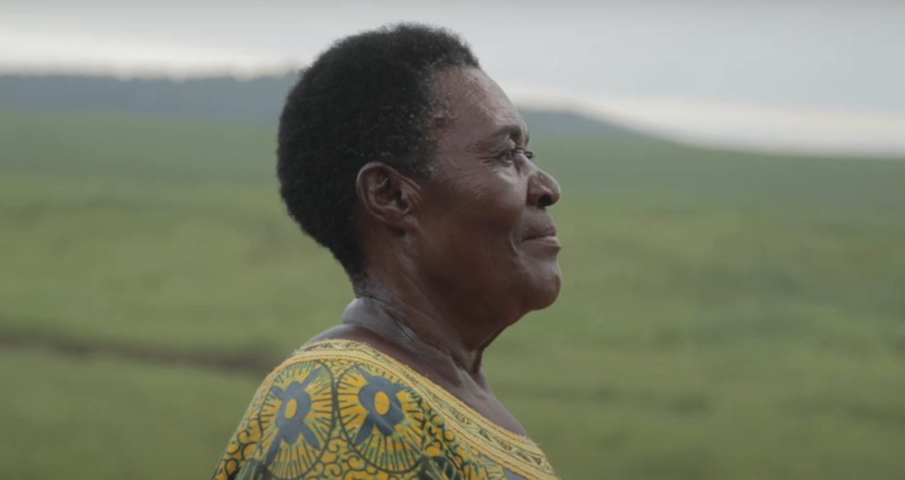
[[[0,68],[247,72],[447,26],[517,101],[674,136],[905,152],[905,0],[3,0]]]

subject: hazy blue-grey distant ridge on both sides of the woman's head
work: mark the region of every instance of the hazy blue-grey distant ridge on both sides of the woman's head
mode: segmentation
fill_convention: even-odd
[[[120,80],[77,75],[0,75],[0,108],[108,111],[218,123],[274,125],[295,74],[241,80]],[[570,111],[519,109],[532,136],[638,140],[645,135]]]

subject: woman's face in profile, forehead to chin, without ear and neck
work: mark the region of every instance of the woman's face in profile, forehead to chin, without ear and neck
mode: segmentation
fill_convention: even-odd
[[[548,307],[560,285],[548,212],[559,200],[557,181],[534,164],[524,121],[484,72],[443,72],[437,91],[452,121],[433,130],[433,173],[419,195],[419,261],[432,283],[488,313],[517,319]]]

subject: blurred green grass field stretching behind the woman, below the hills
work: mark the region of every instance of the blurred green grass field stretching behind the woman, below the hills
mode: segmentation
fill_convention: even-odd
[[[0,114],[0,478],[206,478],[338,321],[272,136]],[[905,475],[905,161],[535,149],[563,293],[485,363],[565,480]]]

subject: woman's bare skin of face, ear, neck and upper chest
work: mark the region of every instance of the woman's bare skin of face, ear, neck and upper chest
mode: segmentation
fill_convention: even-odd
[[[531,161],[524,121],[484,72],[441,72],[435,94],[452,120],[431,131],[430,178],[379,162],[359,172],[367,282],[355,285],[343,324],[312,341],[365,341],[524,434],[494,398],[481,355],[557,298],[559,243],[548,207],[559,186]]]

